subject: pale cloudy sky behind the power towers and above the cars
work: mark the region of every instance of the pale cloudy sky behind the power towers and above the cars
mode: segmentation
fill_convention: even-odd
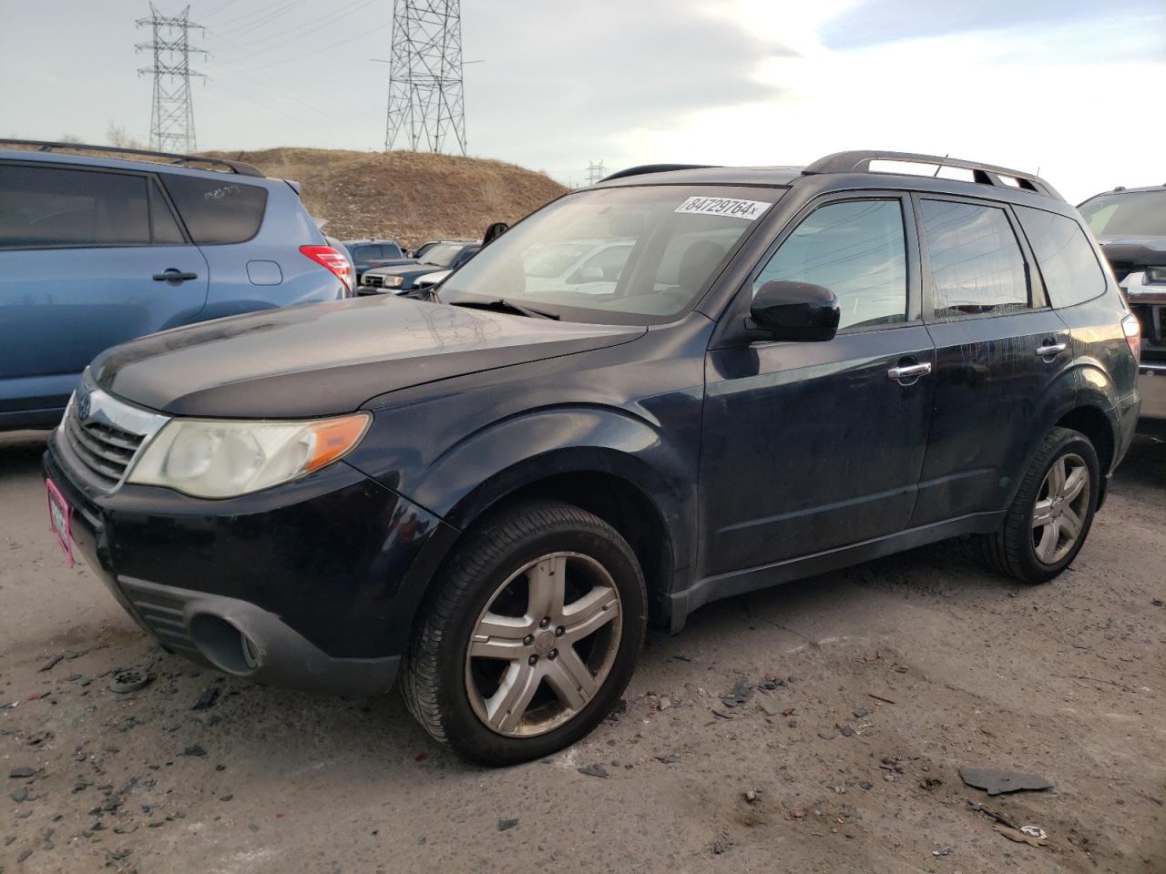
[[[157,0],[164,13],[187,3]],[[380,150],[392,0],[191,0],[201,149]],[[0,0],[0,136],[148,140],[145,0]],[[805,164],[852,148],[1166,183],[1166,0],[463,0],[469,154]]]

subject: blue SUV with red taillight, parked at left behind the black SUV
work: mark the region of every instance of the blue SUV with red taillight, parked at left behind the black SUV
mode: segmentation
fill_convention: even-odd
[[[236,161],[0,140],[0,430],[56,424],[110,346],[351,291],[295,183]]]

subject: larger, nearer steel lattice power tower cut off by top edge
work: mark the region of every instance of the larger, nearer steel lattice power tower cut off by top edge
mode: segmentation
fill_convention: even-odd
[[[461,0],[396,0],[388,73],[385,151],[441,151],[447,138],[465,155]]]

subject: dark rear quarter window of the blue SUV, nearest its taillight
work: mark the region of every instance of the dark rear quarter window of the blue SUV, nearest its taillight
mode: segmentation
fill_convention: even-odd
[[[166,190],[178,207],[190,238],[199,246],[246,242],[264,224],[267,189],[225,176],[203,179],[166,175]]]

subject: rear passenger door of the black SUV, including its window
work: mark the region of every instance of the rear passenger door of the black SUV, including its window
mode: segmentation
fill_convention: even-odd
[[[936,361],[913,527],[1004,508],[1034,414],[1073,358],[1007,205],[933,195],[915,204]]]

